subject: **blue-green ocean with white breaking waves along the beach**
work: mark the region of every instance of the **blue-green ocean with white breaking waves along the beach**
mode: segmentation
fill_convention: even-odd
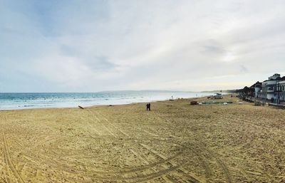
[[[119,105],[173,98],[195,98],[213,93],[180,91],[110,91],[98,93],[0,93],[0,110],[27,108],[76,108],[78,105]]]

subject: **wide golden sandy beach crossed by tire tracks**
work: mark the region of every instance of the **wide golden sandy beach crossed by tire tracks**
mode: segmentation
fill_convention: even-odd
[[[6,110],[0,123],[0,182],[285,182],[285,110],[252,103]]]

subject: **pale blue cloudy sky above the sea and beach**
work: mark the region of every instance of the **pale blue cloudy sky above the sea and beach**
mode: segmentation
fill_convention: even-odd
[[[226,90],[285,75],[284,0],[0,0],[0,92]]]

